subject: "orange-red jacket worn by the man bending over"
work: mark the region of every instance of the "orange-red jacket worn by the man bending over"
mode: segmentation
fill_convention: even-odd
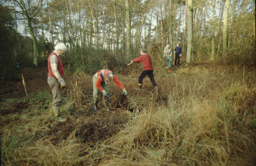
[[[109,70],[104,70],[104,79],[103,79],[103,75],[102,75],[102,72],[101,70],[99,70],[97,72],[97,80],[96,80],[96,84],[95,86],[100,90],[100,91],[103,91],[104,89],[102,88],[102,86],[100,86],[101,82],[104,82],[106,80],[106,77],[107,77],[107,74],[108,73],[113,73]],[[114,73],[113,73],[114,75]],[[114,79],[113,79],[115,82],[116,82],[116,85],[118,87],[120,87],[122,90],[124,89],[124,86],[123,84],[117,79],[116,75],[114,75]]]

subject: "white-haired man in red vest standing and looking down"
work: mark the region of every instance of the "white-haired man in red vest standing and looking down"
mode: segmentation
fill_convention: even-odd
[[[47,82],[52,91],[52,114],[56,121],[64,122],[67,119],[60,116],[60,106],[62,102],[62,91],[66,83],[63,80],[64,68],[61,63],[61,55],[65,54],[67,47],[64,43],[58,43],[54,47],[54,51],[48,57],[48,78]]]

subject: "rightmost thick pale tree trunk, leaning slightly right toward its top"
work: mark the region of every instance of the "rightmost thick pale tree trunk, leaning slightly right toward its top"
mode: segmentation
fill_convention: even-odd
[[[223,20],[223,57],[227,58],[227,41],[228,41],[228,10],[231,0],[226,0],[225,11],[224,11],[224,20]]]

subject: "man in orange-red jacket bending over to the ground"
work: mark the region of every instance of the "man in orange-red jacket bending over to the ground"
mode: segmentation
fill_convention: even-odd
[[[95,75],[93,75],[93,105],[94,110],[98,110],[97,103],[99,97],[99,91],[102,91],[104,96],[107,96],[108,103],[110,103],[111,93],[109,91],[108,81],[114,80],[116,85],[123,90],[125,96],[127,91],[124,89],[123,84],[117,79],[116,75],[109,70],[99,70]]]

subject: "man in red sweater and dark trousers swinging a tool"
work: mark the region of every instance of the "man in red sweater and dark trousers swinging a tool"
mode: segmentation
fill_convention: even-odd
[[[138,89],[142,88],[142,80],[144,79],[144,77],[146,75],[148,75],[148,77],[150,78],[150,80],[151,80],[151,82],[154,86],[155,92],[156,92],[157,91],[157,84],[156,84],[156,81],[154,79],[154,74],[153,74],[154,69],[153,69],[153,66],[152,66],[151,58],[147,54],[146,49],[141,49],[140,54],[141,54],[141,56],[139,56],[136,59],[133,59],[131,61],[131,63],[140,63],[140,62],[142,62],[143,72],[141,73],[141,75],[139,77]]]

